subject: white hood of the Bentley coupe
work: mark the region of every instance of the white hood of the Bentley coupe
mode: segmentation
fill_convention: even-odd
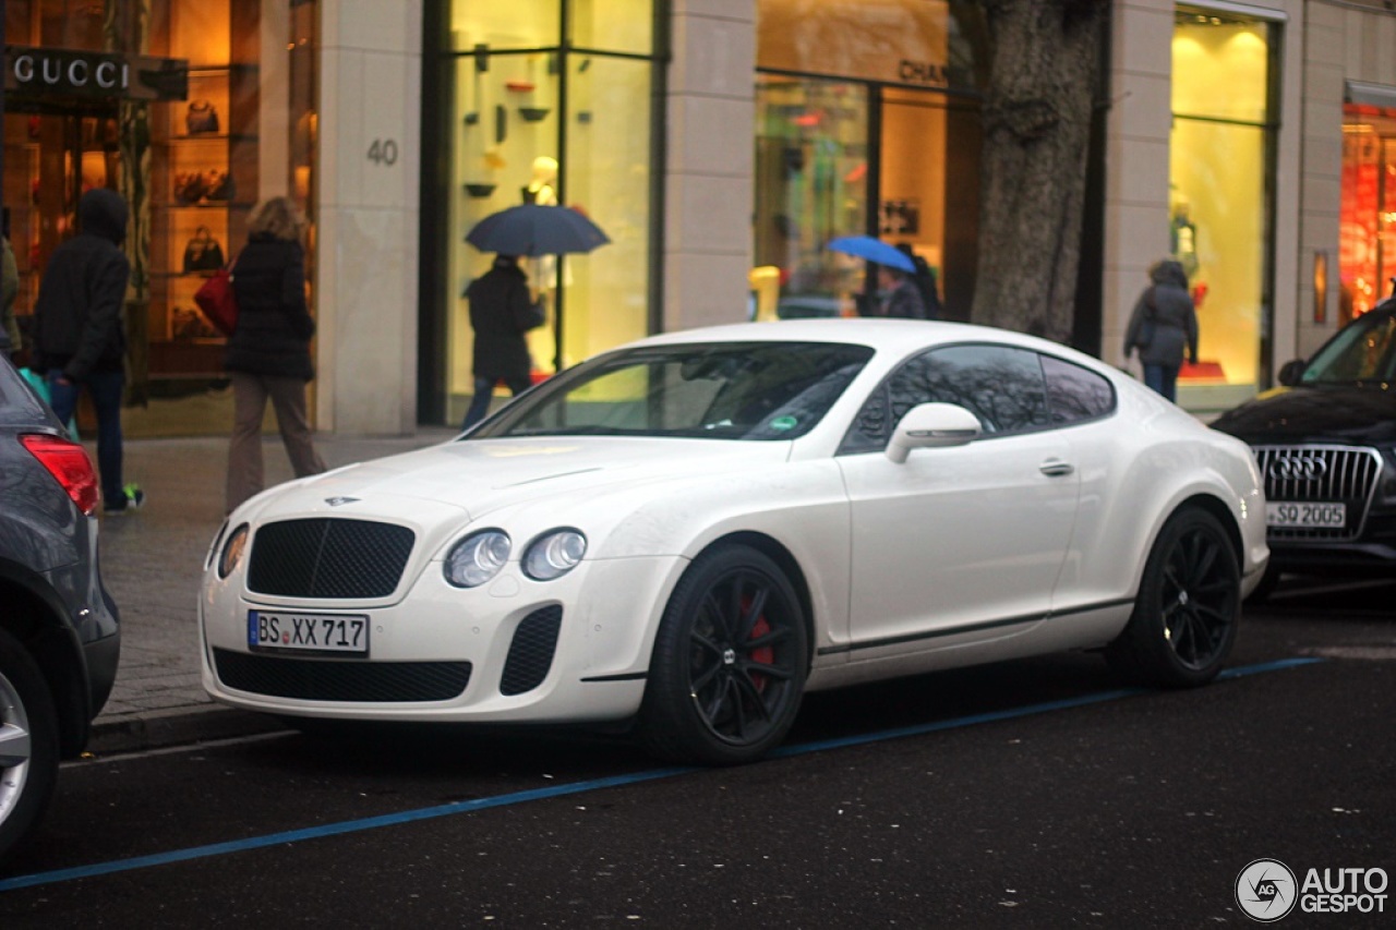
[[[258,517],[336,511],[350,517],[423,517],[455,507],[477,519],[551,494],[614,485],[712,476],[787,461],[790,443],[547,437],[447,443],[349,465],[258,497]]]

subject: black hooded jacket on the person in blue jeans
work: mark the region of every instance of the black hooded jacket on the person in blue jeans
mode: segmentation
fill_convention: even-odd
[[[81,233],[53,250],[34,304],[40,369],[63,369],[71,380],[120,371],[126,357],[121,307],[131,263],[126,201],[98,187],[78,201]]]

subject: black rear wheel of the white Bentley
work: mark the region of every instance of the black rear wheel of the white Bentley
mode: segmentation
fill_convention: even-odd
[[[1216,517],[1188,507],[1159,533],[1134,613],[1106,659],[1142,684],[1206,684],[1231,654],[1240,616],[1241,570],[1231,539]]]

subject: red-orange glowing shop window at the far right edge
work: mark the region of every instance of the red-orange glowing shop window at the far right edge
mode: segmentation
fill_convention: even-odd
[[[1343,109],[1339,324],[1396,293],[1396,109]]]

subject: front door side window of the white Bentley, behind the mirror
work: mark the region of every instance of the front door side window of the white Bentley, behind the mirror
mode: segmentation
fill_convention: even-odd
[[[917,404],[958,404],[984,433],[1020,433],[1053,422],[1036,352],[958,345],[910,359],[859,411],[839,452],[886,447],[892,429]]]

